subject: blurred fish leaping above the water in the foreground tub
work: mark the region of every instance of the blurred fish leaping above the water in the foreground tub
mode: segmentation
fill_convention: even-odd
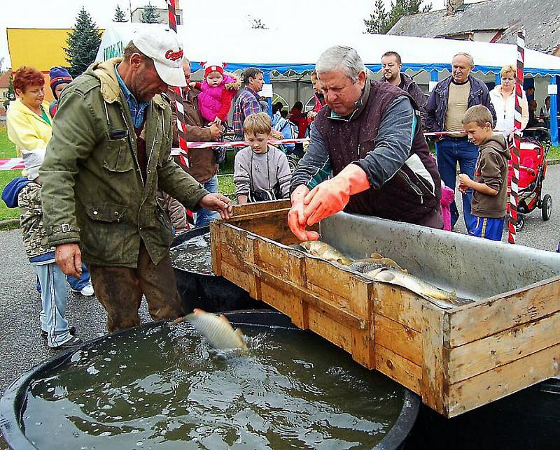
[[[194,326],[201,335],[207,338],[212,347],[218,350],[247,349],[243,332],[240,328],[234,330],[225,316],[218,316],[195,308],[194,312],[181,319],[183,319],[181,321],[188,321],[189,324]],[[174,321],[172,323],[178,322]]]

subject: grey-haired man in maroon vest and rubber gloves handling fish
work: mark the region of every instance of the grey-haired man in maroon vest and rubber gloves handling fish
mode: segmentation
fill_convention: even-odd
[[[440,177],[409,95],[368,79],[353,48],[328,48],[316,71],[327,107],[293,173],[291,231],[317,239],[305,228],[341,210],[442,228]]]

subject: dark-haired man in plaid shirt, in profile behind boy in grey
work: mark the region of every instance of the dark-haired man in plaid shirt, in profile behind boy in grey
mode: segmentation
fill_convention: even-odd
[[[246,68],[241,78],[245,87],[233,106],[233,131],[239,140],[244,139],[243,122],[247,116],[262,111],[258,93],[265,84],[262,71],[255,67]]]

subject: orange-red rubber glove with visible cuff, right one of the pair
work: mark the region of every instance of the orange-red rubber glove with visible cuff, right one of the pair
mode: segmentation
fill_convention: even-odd
[[[367,189],[370,189],[370,181],[363,168],[349,164],[335,177],[317,184],[305,196],[303,215],[307,217],[307,226],[344,210],[351,195]]]

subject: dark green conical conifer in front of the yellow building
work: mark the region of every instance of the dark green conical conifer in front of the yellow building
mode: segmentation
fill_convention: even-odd
[[[99,34],[97,24],[85,8],[82,8],[76,17],[76,24],[66,39],[68,47],[64,48],[66,61],[70,64],[68,71],[72,77],[77,77],[85,72],[87,66],[92,64],[100,43],[101,34]]]

